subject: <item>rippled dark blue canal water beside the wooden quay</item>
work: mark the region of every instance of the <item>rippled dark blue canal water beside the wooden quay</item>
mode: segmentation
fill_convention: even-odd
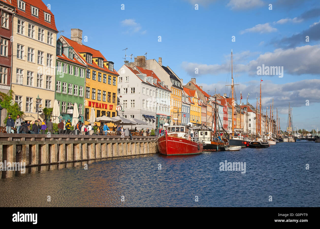
[[[0,172],[0,207],[319,207],[319,146],[284,142],[268,149],[151,154]],[[220,171],[226,160],[245,163],[245,173]]]

